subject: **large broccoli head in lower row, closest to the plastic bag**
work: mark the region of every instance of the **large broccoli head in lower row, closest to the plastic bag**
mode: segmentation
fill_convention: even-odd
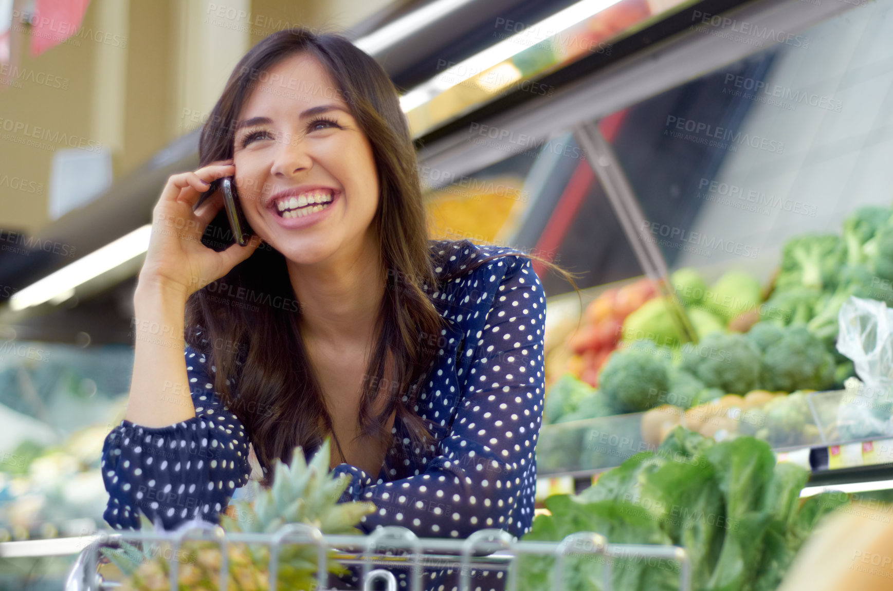
[[[837,365],[822,340],[805,327],[789,327],[763,356],[764,387],[772,391],[824,390]]]

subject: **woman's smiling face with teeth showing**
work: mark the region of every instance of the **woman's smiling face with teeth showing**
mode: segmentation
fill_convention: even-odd
[[[298,264],[359,252],[379,202],[368,138],[313,55],[291,55],[259,78],[233,146],[246,220]]]

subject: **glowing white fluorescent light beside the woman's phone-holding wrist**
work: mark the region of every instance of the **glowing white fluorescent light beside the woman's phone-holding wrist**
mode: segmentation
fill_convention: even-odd
[[[146,224],[15,292],[9,299],[10,309],[19,311],[45,302],[65,301],[74,295],[75,287],[144,254],[151,233],[152,224]]]

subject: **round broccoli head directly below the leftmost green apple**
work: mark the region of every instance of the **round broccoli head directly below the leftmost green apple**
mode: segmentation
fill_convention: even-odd
[[[648,343],[648,341],[643,341]],[[670,387],[664,350],[638,345],[615,351],[598,376],[598,387],[618,412],[642,412],[663,404]]]

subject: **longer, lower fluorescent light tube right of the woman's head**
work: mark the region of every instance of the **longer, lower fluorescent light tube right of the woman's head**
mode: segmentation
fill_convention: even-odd
[[[400,97],[400,106],[405,112],[412,111],[448,88],[455,87],[465,80],[487,71],[499,62],[505,62],[514,54],[520,54],[530,46],[547,41],[550,37],[554,37],[565,29],[570,29],[618,2],[620,0],[582,0],[582,2],[568,6],[563,11],[555,12],[547,19],[523,29],[520,33],[500,41],[495,46],[488,47],[479,54],[472,55],[467,60],[455,64],[427,82],[414,87]]]

